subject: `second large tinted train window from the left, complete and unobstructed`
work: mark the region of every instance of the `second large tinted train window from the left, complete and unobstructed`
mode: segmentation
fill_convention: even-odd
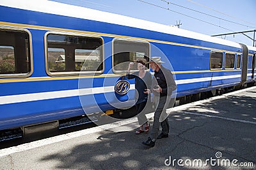
[[[48,73],[102,72],[102,39],[75,35],[47,35]]]

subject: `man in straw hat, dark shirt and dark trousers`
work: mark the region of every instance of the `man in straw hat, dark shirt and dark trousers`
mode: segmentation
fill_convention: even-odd
[[[168,137],[169,133],[169,123],[168,114],[166,109],[171,100],[172,91],[174,91],[177,86],[173,79],[172,72],[164,68],[161,63],[160,57],[152,57],[150,61],[150,67],[154,70],[154,81],[152,82],[152,88],[147,89],[148,93],[152,91],[154,97],[157,98],[157,108],[154,113],[154,123],[150,137],[143,144],[153,147],[155,146],[156,139],[161,139],[163,137]],[[158,135],[159,126],[161,124],[162,132]]]

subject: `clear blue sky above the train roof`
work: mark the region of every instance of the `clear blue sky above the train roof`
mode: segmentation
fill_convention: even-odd
[[[256,0],[52,0],[180,29],[220,35],[256,29]],[[253,46],[253,32],[217,36]],[[248,36],[250,38],[248,38]],[[256,37],[256,35],[255,35]],[[255,38],[256,39],[256,38]],[[256,42],[255,42],[256,44]]]

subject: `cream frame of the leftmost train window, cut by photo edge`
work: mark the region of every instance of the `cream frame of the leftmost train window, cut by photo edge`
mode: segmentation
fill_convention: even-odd
[[[19,77],[30,77],[33,72],[34,72],[34,68],[33,68],[33,48],[32,48],[32,35],[31,32],[28,29],[25,28],[18,28],[18,27],[8,27],[8,26],[0,26],[0,31],[1,30],[6,30],[6,31],[12,31],[12,32],[23,32],[23,33],[28,33],[28,45],[29,48],[27,50],[29,50],[29,55],[28,55],[28,59],[29,59],[29,63],[30,63],[30,70],[28,73],[0,73],[0,78],[19,78]],[[1,46],[11,46],[11,45],[1,45]],[[13,45],[12,45],[13,47]],[[13,47],[13,50],[15,50],[15,47]]]

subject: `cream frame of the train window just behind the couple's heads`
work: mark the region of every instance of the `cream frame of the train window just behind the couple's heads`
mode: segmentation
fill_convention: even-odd
[[[134,40],[134,39],[128,39],[128,38],[113,38],[112,40],[112,71],[113,73],[126,73],[127,70],[115,70],[115,65],[114,65],[114,49],[115,49],[115,41],[124,41],[124,42],[134,42],[134,43],[146,43],[148,45],[148,59],[150,60],[150,43],[144,40]],[[150,65],[148,66],[149,68],[147,70],[150,70]],[[131,70],[132,72],[136,72],[137,70]]]

